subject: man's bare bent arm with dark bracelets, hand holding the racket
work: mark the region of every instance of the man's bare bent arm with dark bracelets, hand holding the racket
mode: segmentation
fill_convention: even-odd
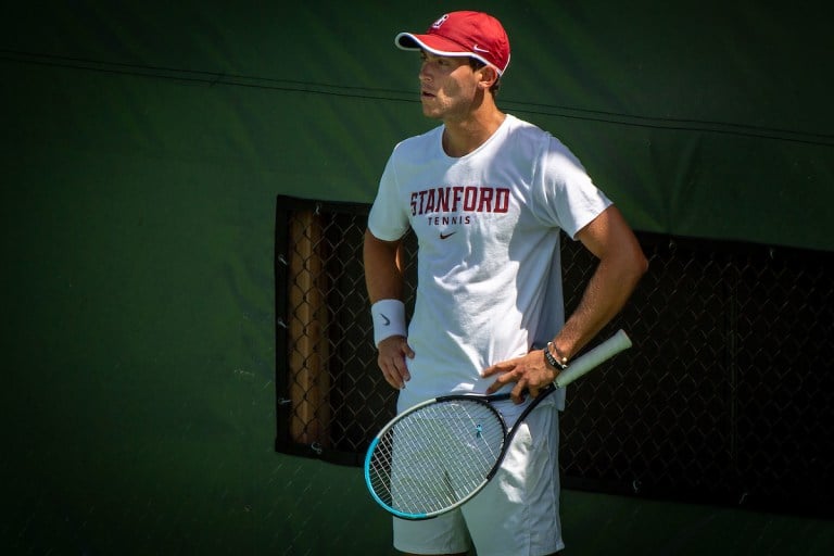
[[[553,339],[556,351],[568,359],[622,309],[648,269],[648,261],[637,239],[614,205],[582,228],[577,238],[598,258],[598,264],[577,309]],[[495,374],[502,375],[488,393],[500,390],[508,382],[516,382],[513,399],[520,402],[525,390],[529,390],[533,396],[538,395],[539,390],[555,380],[557,371],[545,364],[544,352],[535,350],[521,357],[497,363],[483,371],[483,376]]]

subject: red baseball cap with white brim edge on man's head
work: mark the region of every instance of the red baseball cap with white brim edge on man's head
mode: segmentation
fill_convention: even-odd
[[[509,65],[509,39],[501,22],[483,12],[450,12],[425,35],[401,33],[394,43],[403,50],[427,50],[438,56],[469,56],[502,75]]]

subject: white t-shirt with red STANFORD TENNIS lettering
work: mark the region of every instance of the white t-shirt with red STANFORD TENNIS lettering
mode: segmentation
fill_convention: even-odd
[[[561,142],[511,115],[459,159],[442,135],[439,126],[394,148],[368,217],[381,240],[409,227],[418,240],[416,355],[399,410],[483,393],[495,377],[482,369],[553,339],[565,321],[559,229],[572,238],[611,204]],[[564,394],[551,403],[563,408]]]

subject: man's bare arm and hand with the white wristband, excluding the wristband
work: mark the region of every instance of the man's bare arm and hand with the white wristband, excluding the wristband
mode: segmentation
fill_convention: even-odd
[[[380,300],[403,301],[403,245],[401,241],[383,241],[369,230],[365,231],[363,248],[365,287],[371,305]],[[414,357],[414,351],[403,336],[392,336],[377,346],[377,364],[386,381],[396,389],[405,388],[410,379],[405,358]]]

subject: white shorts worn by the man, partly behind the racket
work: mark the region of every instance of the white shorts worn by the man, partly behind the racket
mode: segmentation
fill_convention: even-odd
[[[559,522],[559,416],[536,407],[513,438],[501,469],[463,507],[425,521],[394,520],[394,547],[413,554],[544,556],[565,547]]]

